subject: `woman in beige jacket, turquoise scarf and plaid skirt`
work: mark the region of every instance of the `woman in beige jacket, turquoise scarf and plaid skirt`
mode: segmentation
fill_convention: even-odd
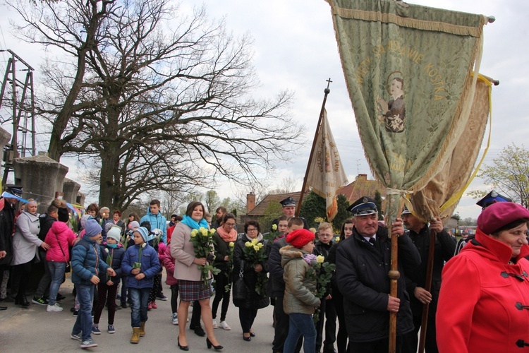
[[[209,286],[202,281],[202,272],[198,265],[206,265],[207,258],[195,257],[195,248],[191,239],[191,231],[204,227],[208,229],[204,219],[204,205],[198,201],[193,201],[188,205],[186,215],[183,220],[175,226],[171,237],[171,256],[176,260],[174,266],[174,277],[178,280],[178,290],[180,292],[180,306],[178,306],[178,347],[189,350],[186,339],[186,322],[191,301],[198,300],[202,309],[202,321],[206,328],[207,347],[222,349],[213,331],[212,311],[209,306]],[[213,258],[213,257],[212,257]],[[212,260],[212,259],[211,259]]]

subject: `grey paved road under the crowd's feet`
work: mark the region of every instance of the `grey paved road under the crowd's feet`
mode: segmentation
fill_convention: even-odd
[[[60,313],[47,313],[46,306],[36,304],[32,304],[29,309],[22,309],[13,303],[1,303],[2,306],[8,306],[8,309],[0,311],[0,352],[85,351],[85,349],[80,349],[78,341],[70,338],[71,329],[75,323],[75,318],[70,312],[73,306],[72,289],[73,285],[68,278],[60,290],[61,294],[66,296],[61,304],[65,309]],[[165,284],[164,294],[167,297],[171,294],[169,286]],[[157,304],[158,309],[149,311],[147,334],[141,338],[138,345],[132,345],[129,342],[132,333],[130,309],[116,311],[114,320],[116,333],[112,335],[106,332],[108,316],[105,310],[99,323],[102,334],[92,335],[99,346],[86,350],[91,352],[180,352],[176,345],[178,326],[171,323],[171,304],[169,301],[157,301]],[[222,352],[272,352],[274,337],[272,310],[273,306],[268,306],[257,313],[253,326],[256,337],[252,337],[251,342],[246,342],[242,338],[238,308],[231,304],[226,318],[231,331],[221,328],[215,330],[217,340],[224,346]],[[187,333],[190,352],[213,352],[213,349],[207,349],[205,337],[198,337],[192,330],[189,330],[189,324]]]

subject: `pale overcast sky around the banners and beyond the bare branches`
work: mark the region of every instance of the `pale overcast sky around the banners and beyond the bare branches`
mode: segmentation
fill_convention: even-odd
[[[481,73],[500,81],[500,85],[493,88],[492,141],[485,162],[491,162],[510,143],[524,143],[529,122],[528,109],[525,107],[529,102],[529,90],[525,84],[529,82],[529,1],[415,0],[408,3],[496,17],[496,22],[486,25],[484,29],[485,46],[480,69]],[[181,1],[181,9],[187,11],[200,4],[202,1],[184,0]],[[254,38],[254,64],[262,83],[256,96],[272,96],[285,89],[295,92],[291,114],[305,125],[307,143],[291,162],[281,164],[279,174],[298,180],[300,189],[310,152],[309,141],[314,135],[323,90],[327,85],[325,80],[331,78],[333,82],[327,98],[327,114],[346,174],[349,181],[353,181],[358,173],[368,174],[371,179],[343,78],[327,2],[212,0],[204,4],[209,17],[226,18],[226,27],[233,31],[233,35],[250,33]],[[39,62],[44,52],[14,39],[7,16],[6,11],[0,13],[0,47],[12,49],[35,66],[35,80],[38,81]],[[0,54],[2,76],[6,60],[7,56]],[[71,162],[66,164],[74,169]],[[67,177],[75,179],[75,172],[72,170]],[[230,196],[229,190],[226,190],[229,188],[222,189],[224,191],[219,189],[221,197]],[[481,179],[475,179],[468,191],[475,189],[487,189],[487,186],[483,185]],[[480,208],[475,202],[473,198],[463,196],[456,212],[462,217],[478,217]]]

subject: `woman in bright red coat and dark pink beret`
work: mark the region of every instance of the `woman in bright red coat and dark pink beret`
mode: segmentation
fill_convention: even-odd
[[[446,263],[437,306],[439,352],[529,348],[529,211],[494,203],[475,239]]]

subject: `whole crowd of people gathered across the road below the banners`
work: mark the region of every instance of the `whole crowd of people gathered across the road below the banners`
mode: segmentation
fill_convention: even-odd
[[[483,210],[475,237],[461,246],[439,217],[426,222],[407,208],[386,227],[368,197],[349,206],[351,218],[340,234],[327,222],[307,229],[306,220],[293,215],[293,198],[281,201],[284,214],[270,232],[249,220],[238,233],[236,216],[223,207],[212,224],[198,201],[168,223],[158,200],[144,217],[130,213],[126,222],[120,211],[110,217],[109,208],[91,204],[74,232],[64,201],[54,200],[39,215],[37,202],[17,193],[9,190],[0,199],[0,300],[30,306],[32,267],[42,263],[31,302],[50,313],[63,311],[59,287],[71,270],[77,316],[71,338],[82,348],[97,347],[92,335],[101,333],[105,306],[110,334],[117,307],[130,306],[130,343],[138,344],[156,300],[168,300],[164,269],[183,351],[192,348],[188,322],[206,337],[207,348],[224,348],[215,329],[232,329],[226,322],[231,302],[246,342],[256,336],[259,310],[274,305],[274,353],[387,352],[390,313],[397,314],[396,352],[417,352],[425,328],[428,353],[529,347],[529,211],[494,191],[478,203]],[[392,235],[399,248],[396,297],[388,277]]]

